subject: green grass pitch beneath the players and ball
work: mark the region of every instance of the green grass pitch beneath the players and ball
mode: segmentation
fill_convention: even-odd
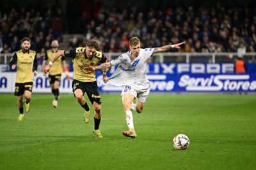
[[[33,94],[17,122],[16,97],[0,94],[0,169],[256,168],[253,94],[150,94],[143,113],[133,113],[136,139],[122,136],[120,94],[102,94],[102,139],[93,136],[93,117],[84,124],[74,96],[61,95],[56,109],[52,98]],[[190,139],[187,150],[172,146],[180,133]]]

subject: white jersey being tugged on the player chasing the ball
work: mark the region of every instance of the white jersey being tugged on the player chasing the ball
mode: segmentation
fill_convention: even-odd
[[[115,60],[111,60],[111,65],[118,65],[118,67],[109,78],[109,83],[116,86],[124,86],[135,82],[142,83],[148,81],[147,59],[151,57],[154,50],[155,48],[141,48],[138,57],[136,57],[132,62],[131,51],[123,53]]]

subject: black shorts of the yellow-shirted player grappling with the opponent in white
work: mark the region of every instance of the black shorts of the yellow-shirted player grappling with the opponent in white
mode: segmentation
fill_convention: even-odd
[[[83,94],[84,93],[87,94],[92,104],[93,104],[93,101],[101,104],[97,81],[83,82],[83,81],[74,80],[72,82],[72,89],[73,89],[73,93],[75,92],[76,89],[81,89],[83,91]],[[74,93],[74,96],[75,96],[75,93]]]

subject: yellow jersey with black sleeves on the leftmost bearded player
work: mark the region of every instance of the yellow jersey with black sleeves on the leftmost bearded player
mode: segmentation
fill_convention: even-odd
[[[36,52],[19,50],[10,60],[10,67],[17,64],[16,83],[33,82],[33,71],[37,69]]]

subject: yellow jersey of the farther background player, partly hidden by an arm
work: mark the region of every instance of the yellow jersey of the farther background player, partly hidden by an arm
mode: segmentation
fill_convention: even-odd
[[[58,50],[56,51],[58,52]],[[47,61],[47,63],[49,63],[52,59],[52,57],[54,57],[54,55],[56,54],[56,52],[53,52],[52,50],[47,50],[47,52],[45,53],[45,57],[44,60]],[[62,73],[62,61],[65,59],[64,56],[59,57],[51,66],[51,69],[49,71],[49,75],[56,75],[56,74],[61,74]]]

